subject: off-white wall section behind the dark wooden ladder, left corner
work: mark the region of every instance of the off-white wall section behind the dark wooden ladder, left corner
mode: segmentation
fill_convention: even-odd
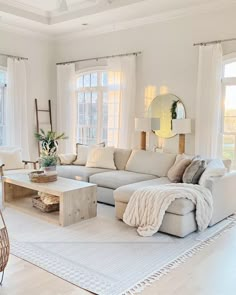
[[[36,159],[37,145],[33,132],[35,131],[35,108],[34,99],[38,99],[40,108],[47,107],[47,100],[55,95],[55,73],[53,72],[52,42],[39,40],[36,37],[19,35],[0,29],[0,53],[27,57],[29,59],[29,119],[30,119],[30,142],[32,159]],[[0,63],[6,63],[5,58]],[[54,102],[52,102],[54,105]],[[42,118],[41,121],[45,121]]]

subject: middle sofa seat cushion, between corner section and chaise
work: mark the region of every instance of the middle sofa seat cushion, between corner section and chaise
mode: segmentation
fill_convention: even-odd
[[[117,170],[92,175],[89,178],[89,182],[101,187],[117,189],[123,185],[155,178],[156,176],[153,175]]]

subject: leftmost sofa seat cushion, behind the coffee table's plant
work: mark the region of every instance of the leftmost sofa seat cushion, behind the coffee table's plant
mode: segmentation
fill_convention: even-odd
[[[110,171],[109,169],[103,168],[89,168],[85,166],[78,165],[63,165],[57,166],[58,176],[75,179],[76,176],[80,177],[81,181],[89,181],[89,177],[96,173],[102,173],[105,171]]]

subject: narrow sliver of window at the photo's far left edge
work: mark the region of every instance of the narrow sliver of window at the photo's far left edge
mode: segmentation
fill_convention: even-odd
[[[0,146],[6,144],[5,99],[6,70],[0,67]]]

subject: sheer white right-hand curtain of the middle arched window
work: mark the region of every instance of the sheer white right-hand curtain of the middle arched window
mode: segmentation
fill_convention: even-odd
[[[134,141],[136,56],[109,59],[108,77],[108,98],[112,99],[114,96],[115,99],[118,95],[119,101],[115,110],[119,122],[115,145],[119,148],[131,148]]]

